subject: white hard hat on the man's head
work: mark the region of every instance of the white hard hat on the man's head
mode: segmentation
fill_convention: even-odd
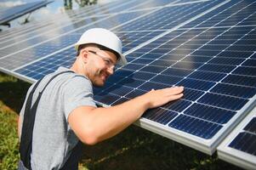
[[[87,43],[99,44],[101,46],[104,46],[105,48],[109,48],[115,51],[117,54],[120,55],[117,60],[117,65],[127,64],[127,60],[122,54],[122,42],[113,32],[105,30],[103,28],[89,29],[88,31],[85,31],[78,40],[78,42],[75,43],[76,50],[78,50],[78,47],[80,45]]]

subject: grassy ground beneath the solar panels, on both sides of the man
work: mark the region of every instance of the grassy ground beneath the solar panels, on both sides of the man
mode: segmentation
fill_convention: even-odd
[[[31,84],[0,73],[0,169],[19,160],[17,117]],[[79,169],[240,169],[134,125],[94,146],[84,145]]]

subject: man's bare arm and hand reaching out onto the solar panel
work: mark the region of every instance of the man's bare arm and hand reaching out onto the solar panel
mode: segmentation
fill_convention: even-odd
[[[68,122],[85,144],[96,144],[120,133],[151,108],[183,96],[183,87],[151,90],[121,105],[108,108],[81,106],[71,112]]]

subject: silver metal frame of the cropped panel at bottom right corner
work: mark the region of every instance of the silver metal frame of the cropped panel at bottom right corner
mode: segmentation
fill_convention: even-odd
[[[238,133],[242,132],[242,129],[246,127],[247,123],[250,122],[255,116],[256,107],[254,107],[253,111],[250,111],[249,114],[242,120],[242,122],[240,122],[239,125],[227,136],[227,138],[225,138],[225,140],[219,144],[217,153],[220,159],[245,169],[256,168],[256,156],[247,154],[246,152],[236,150],[228,146],[232,140],[236,138]]]

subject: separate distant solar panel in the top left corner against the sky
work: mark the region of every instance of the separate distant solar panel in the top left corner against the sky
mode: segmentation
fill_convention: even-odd
[[[0,12],[0,24],[5,24],[10,20],[14,20],[19,18],[20,16],[30,13],[31,11],[36,10],[37,8],[42,8],[46,6],[48,3],[52,3],[51,1],[38,1],[34,3],[25,3],[22,5],[17,5],[14,7],[6,8],[1,10]]]

